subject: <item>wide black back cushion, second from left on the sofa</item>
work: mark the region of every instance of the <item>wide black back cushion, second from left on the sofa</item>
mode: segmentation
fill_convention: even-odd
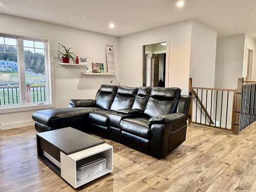
[[[137,92],[138,88],[118,86],[117,94],[110,110],[131,109]]]

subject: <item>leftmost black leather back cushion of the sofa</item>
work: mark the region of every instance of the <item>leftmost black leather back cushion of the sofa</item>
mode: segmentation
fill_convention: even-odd
[[[102,84],[96,94],[96,107],[104,110],[110,110],[113,100],[116,96],[117,86]]]

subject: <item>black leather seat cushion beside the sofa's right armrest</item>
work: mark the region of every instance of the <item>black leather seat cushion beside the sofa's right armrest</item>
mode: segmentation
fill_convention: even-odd
[[[133,135],[150,138],[150,127],[147,124],[148,118],[127,118],[120,123],[122,131],[131,133]]]

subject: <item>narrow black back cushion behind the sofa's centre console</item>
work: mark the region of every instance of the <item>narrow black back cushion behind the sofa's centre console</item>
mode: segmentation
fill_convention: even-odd
[[[132,109],[144,111],[148,98],[150,98],[151,87],[140,87],[135,97]]]

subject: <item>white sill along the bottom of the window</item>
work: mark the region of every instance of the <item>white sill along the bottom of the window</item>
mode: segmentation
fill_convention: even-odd
[[[15,105],[15,106],[7,106],[6,108],[0,108],[0,114],[5,113],[15,113],[15,112],[23,112],[23,111],[34,111],[34,110],[42,110],[55,108],[55,104],[53,103],[44,103],[44,104],[33,104],[33,105]]]

